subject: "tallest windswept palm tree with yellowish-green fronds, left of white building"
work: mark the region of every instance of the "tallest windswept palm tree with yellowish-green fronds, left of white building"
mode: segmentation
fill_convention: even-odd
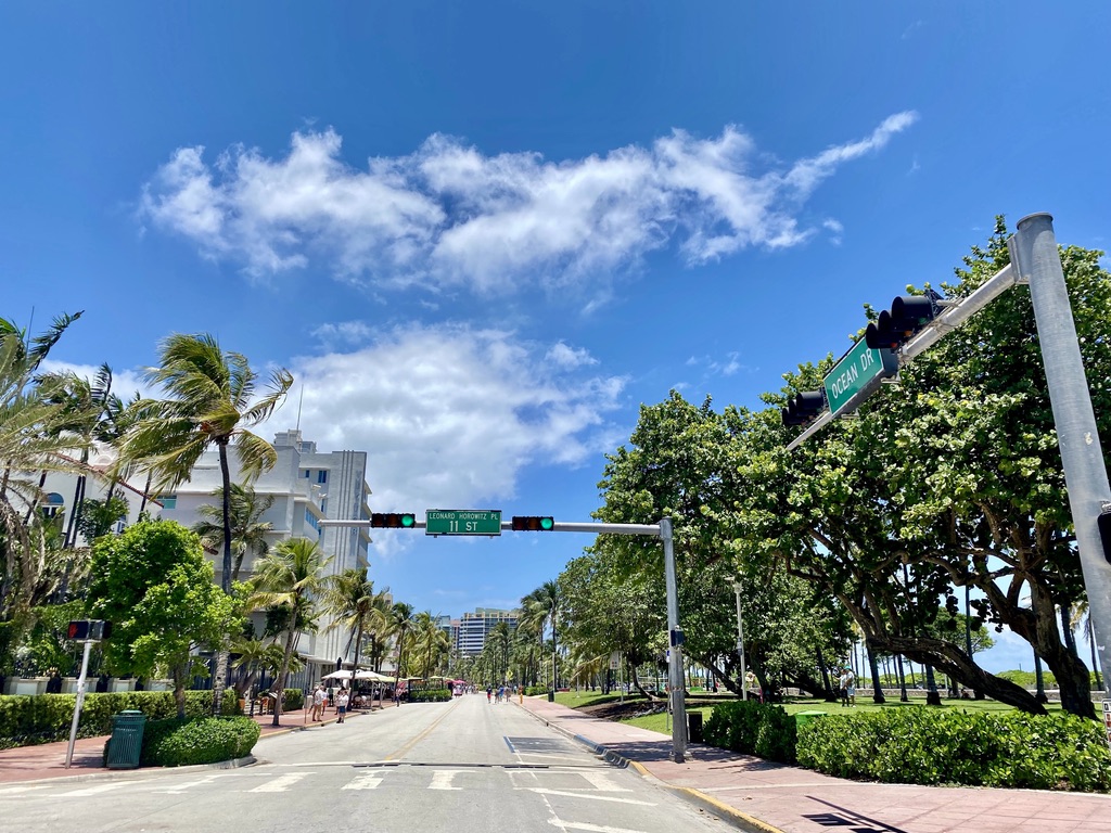
[[[223,352],[208,334],[174,333],[160,345],[159,367],[147,379],[161,384],[167,399],[142,400],[136,422],[122,443],[119,464],[139,462],[158,481],[172,489],[188,481],[193,466],[209,448],[220,455],[223,485],[223,570],[220,586],[231,592],[231,472],[228,446],[239,456],[247,482],[269,471],[278,461],[273,446],[248,429],[263,422],[284,400],[293,384],[289,371],[271,374],[270,392],[254,401],[258,374],[241,353]],[[228,649],[217,661],[212,709],[219,714],[228,673]]]

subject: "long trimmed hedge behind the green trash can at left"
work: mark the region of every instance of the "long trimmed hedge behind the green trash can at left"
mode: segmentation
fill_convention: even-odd
[[[0,749],[31,746],[69,740],[77,694],[36,694],[0,696]],[[133,709],[148,720],[172,717],[178,705],[172,691],[121,691],[84,695],[78,737],[110,734],[112,715]],[[241,714],[234,696],[224,696],[221,712]],[[211,691],[187,691],[186,715],[201,717],[212,713]]]

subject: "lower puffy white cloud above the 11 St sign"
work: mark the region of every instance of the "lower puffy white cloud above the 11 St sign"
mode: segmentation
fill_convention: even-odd
[[[624,380],[552,364],[561,344],[414,325],[354,352],[294,359],[301,431],[321,449],[367,451],[379,511],[511,499],[526,466],[592,461],[618,435],[608,414]],[[291,428],[292,414],[287,405],[261,432]]]

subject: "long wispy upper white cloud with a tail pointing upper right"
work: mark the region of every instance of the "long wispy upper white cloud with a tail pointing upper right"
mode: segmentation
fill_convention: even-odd
[[[732,126],[712,139],[675,130],[650,148],[559,162],[488,157],[437,134],[363,169],[342,161],[334,130],[306,131],[277,159],[236,147],[208,164],[202,147],[181,148],[144,185],[139,214],[259,278],[312,264],[377,285],[551,290],[669,245],[689,263],[797,245],[814,231],[798,218],[814,189],[917,118],[897,113],[785,170],[768,169]]]

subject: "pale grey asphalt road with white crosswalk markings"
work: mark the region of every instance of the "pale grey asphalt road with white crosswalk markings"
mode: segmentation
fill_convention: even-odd
[[[254,755],[238,770],[0,786],[0,819],[19,833],[728,829],[484,694],[268,737]]]

